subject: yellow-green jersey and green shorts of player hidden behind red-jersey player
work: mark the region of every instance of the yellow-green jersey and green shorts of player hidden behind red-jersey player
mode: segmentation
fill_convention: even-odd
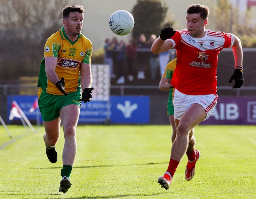
[[[172,75],[173,72],[176,68],[176,64],[177,64],[177,58],[173,59],[172,61],[170,61],[167,66],[165,67],[164,70],[164,74],[163,77],[170,79],[169,82],[171,82],[172,80]],[[173,115],[173,95],[174,95],[174,89],[171,88],[169,89],[169,98],[168,98],[168,102],[167,102],[167,115]]]

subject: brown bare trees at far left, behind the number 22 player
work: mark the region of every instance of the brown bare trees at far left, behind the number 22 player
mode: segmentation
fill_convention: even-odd
[[[0,80],[37,76],[46,39],[62,26],[68,0],[1,0]]]

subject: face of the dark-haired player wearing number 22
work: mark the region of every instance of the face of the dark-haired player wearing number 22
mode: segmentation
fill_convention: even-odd
[[[70,12],[67,19],[64,19],[64,25],[66,26],[68,33],[73,35],[79,35],[83,26],[84,14],[79,12]]]

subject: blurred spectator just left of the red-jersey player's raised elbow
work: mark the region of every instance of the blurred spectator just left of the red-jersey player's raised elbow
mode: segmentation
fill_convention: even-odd
[[[148,48],[151,49],[151,46],[152,46],[152,44],[154,43],[155,40],[156,40],[156,35],[152,34],[152,35],[149,36],[148,43],[147,43]],[[151,72],[151,79],[152,80],[156,79],[156,72],[157,72],[157,66],[158,66],[157,60],[158,60],[158,55],[150,52],[150,54],[149,54],[149,65],[150,65],[150,72]]]

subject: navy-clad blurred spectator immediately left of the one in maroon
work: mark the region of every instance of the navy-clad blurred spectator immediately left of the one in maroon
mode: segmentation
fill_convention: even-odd
[[[126,46],[123,40],[116,45],[116,84],[124,84],[125,52]]]

